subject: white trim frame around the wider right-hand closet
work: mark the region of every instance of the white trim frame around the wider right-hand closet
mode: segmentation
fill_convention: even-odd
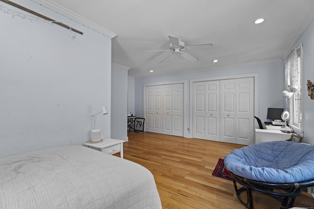
[[[190,107],[189,107],[189,135],[190,138],[193,138],[193,83],[194,82],[202,82],[202,81],[215,81],[215,80],[227,80],[227,79],[236,79],[236,78],[254,78],[254,114],[259,109],[259,74],[258,73],[249,73],[249,74],[239,74],[239,75],[226,75],[226,76],[219,76],[219,77],[212,77],[212,78],[198,78],[198,79],[191,79],[190,80]],[[184,123],[185,125],[185,123]],[[255,142],[255,140],[254,140]]]

